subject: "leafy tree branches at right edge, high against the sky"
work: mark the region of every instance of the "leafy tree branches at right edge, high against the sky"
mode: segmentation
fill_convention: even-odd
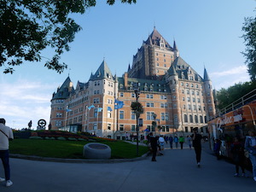
[[[252,81],[256,81],[256,17],[247,17],[242,26],[242,35],[246,49],[242,54],[246,57],[245,63]]]

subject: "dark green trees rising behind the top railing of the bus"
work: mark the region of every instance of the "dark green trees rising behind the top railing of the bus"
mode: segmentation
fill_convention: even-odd
[[[222,88],[221,90],[218,90],[218,109],[225,108],[232,102],[236,102],[241,96],[245,96],[247,93],[255,90],[255,88],[256,82],[245,82],[243,84],[239,83],[230,86],[228,89]]]

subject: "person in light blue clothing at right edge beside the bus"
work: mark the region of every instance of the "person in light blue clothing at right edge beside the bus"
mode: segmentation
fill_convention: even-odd
[[[256,131],[249,131],[244,148],[249,152],[249,158],[253,165],[253,179],[256,181]]]

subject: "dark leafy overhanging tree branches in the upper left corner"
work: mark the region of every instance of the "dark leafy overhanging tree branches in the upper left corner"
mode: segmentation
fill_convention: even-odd
[[[120,0],[136,3],[136,0]],[[115,0],[107,0],[113,5]],[[75,33],[81,27],[70,17],[84,14],[96,6],[96,0],[1,0],[0,3],[0,67],[13,73],[13,67],[24,61],[42,61],[41,51],[51,47],[55,55],[46,59],[44,67],[62,73],[67,64],[61,54],[70,49]]]

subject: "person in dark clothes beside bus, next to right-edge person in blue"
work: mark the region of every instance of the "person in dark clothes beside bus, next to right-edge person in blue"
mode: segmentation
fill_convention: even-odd
[[[233,160],[236,165],[236,173],[234,177],[239,177],[239,166],[241,167],[241,177],[246,177],[245,174],[245,168],[244,168],[244,161],[245,161],[245,156],[244,156],[244,148],[241,142],[237,137],[234,138],[234,142],[231,143],[231,153],[233,154]]]

